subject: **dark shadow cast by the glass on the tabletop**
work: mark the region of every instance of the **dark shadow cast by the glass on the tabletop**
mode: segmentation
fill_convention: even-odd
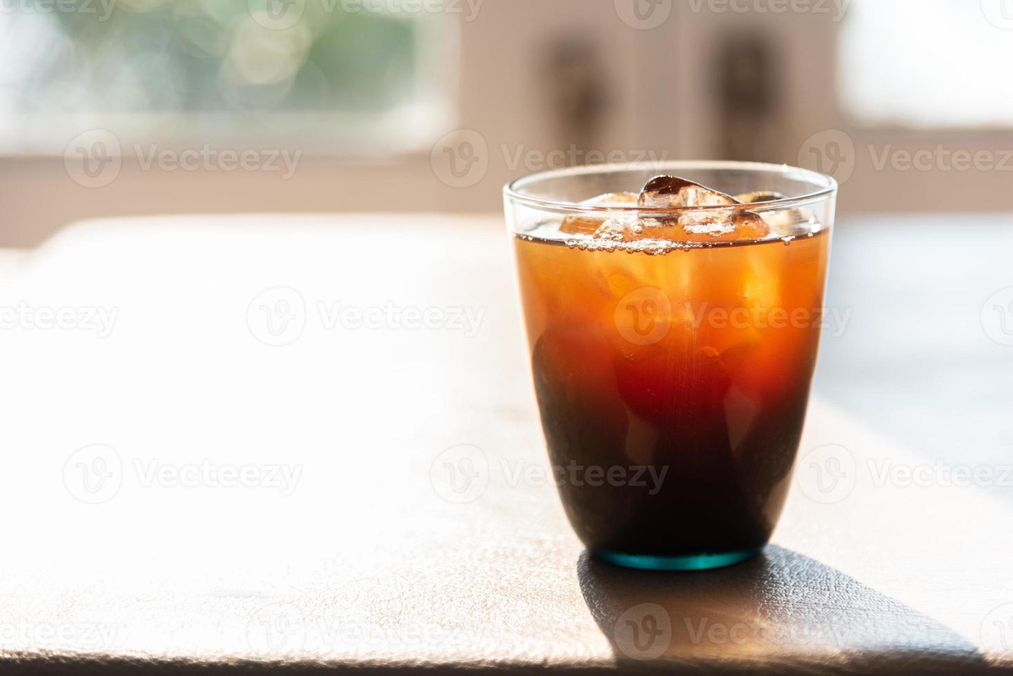
[[[808,557],[775,545],[694,573],[617,568],[585,552],[585,602],[623,671],[968,673],[989,667],[952,629]]]

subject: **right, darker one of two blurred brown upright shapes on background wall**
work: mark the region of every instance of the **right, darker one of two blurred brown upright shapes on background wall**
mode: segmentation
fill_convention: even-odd
[[[781,78],[772,41],[756,34],[726,35],[718,48],[714,75],[721,157],[788,161],[785,124],[777,114]]]

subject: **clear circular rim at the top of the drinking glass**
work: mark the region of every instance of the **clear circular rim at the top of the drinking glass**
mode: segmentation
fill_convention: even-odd
[[[669,170],[678,171],[680,169],[693,170],[724,170],[724,171],[749,171],[754,173],[778,173],[781,175],[793,175],[800,181],[816,186],[817,189],[794,197],[783,197],[781,199],[769,199],[766,201],[744,202],[742,204],[709,204],[701,206],[639,206],[631,205],[610,205],[600,206],[595,204],[581,204],[578,201],[563,199],[548,199],[536,197],[532,194],[522,192],[528,184],[537,181],[552,179],[562,176],[576,176],[581,174],[597,174],[621,171],[656,170],[658,174]],[[820,187],[822,186],[822,187]],[[832,197],[837,193],[838,183],[833,176],[793,167],[789,164],[772,164],[767,162],[735,162],[728,160],[672,160],[666,162],[624,162],[624,163],[602,163],[585,164],[575,167],[564,167],[562,169],[548,169],[526,174],[517,178],[503,186],[503,197],[513,202],[532,206],[544,212],[557,214],[570,214],[579,212],[582,214],[686,214],[700,212],[736,212],[736,210],[771,210],[778,208],[792,208],[804,206],[812,202],[821,201]]]

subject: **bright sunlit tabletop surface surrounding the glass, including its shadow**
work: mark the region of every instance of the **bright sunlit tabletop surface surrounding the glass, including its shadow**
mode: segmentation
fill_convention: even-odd
[[[829,305],[853,312],[824,341],[775,546],[681,578],[588,562],[555,488],[510,480],[546,459],[498,219],[70,227],[0,274],[0,308],[74,313],[67,328],[0,330],[0,658],[10,673],[56,672],[54,656],[124,669],[1011,665],[1013,475],[999,475],[1013,466],[1013,347],[989,337],[983,307],[1013,286],[1013,236],[1001,217],[981,237],[934,223],[917,238],[895,219],[839,229]],[[280,301],[294,324],[276,335],[261,306]],[[439,321],[342,327],[335,304]],[[459,444],[489,468],[467,504],[431,479]],[[830,492],[813,464],[828,458],[845,471]],[[939,479],[957,464],[993,479]],[[642,603],[671,616],[661,661],[631,658],[615,632]],[[746,639],[686,628],[714,623]]]

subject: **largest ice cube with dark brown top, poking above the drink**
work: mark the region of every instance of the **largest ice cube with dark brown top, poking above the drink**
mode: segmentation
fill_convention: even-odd
[[[638,199],[645,208],[686,208],[692,206],[734,206],[743,202],[731,195],[712,190],[678,176],[655,176],[647,181]],[[770,234],[767,223],[753,212],[742,209],[702,209],[685,212],[676,219],[648,219],[640,239],[666,239],[687,242],[752,240]],[[677,228],[675,226],[682,226]]]

